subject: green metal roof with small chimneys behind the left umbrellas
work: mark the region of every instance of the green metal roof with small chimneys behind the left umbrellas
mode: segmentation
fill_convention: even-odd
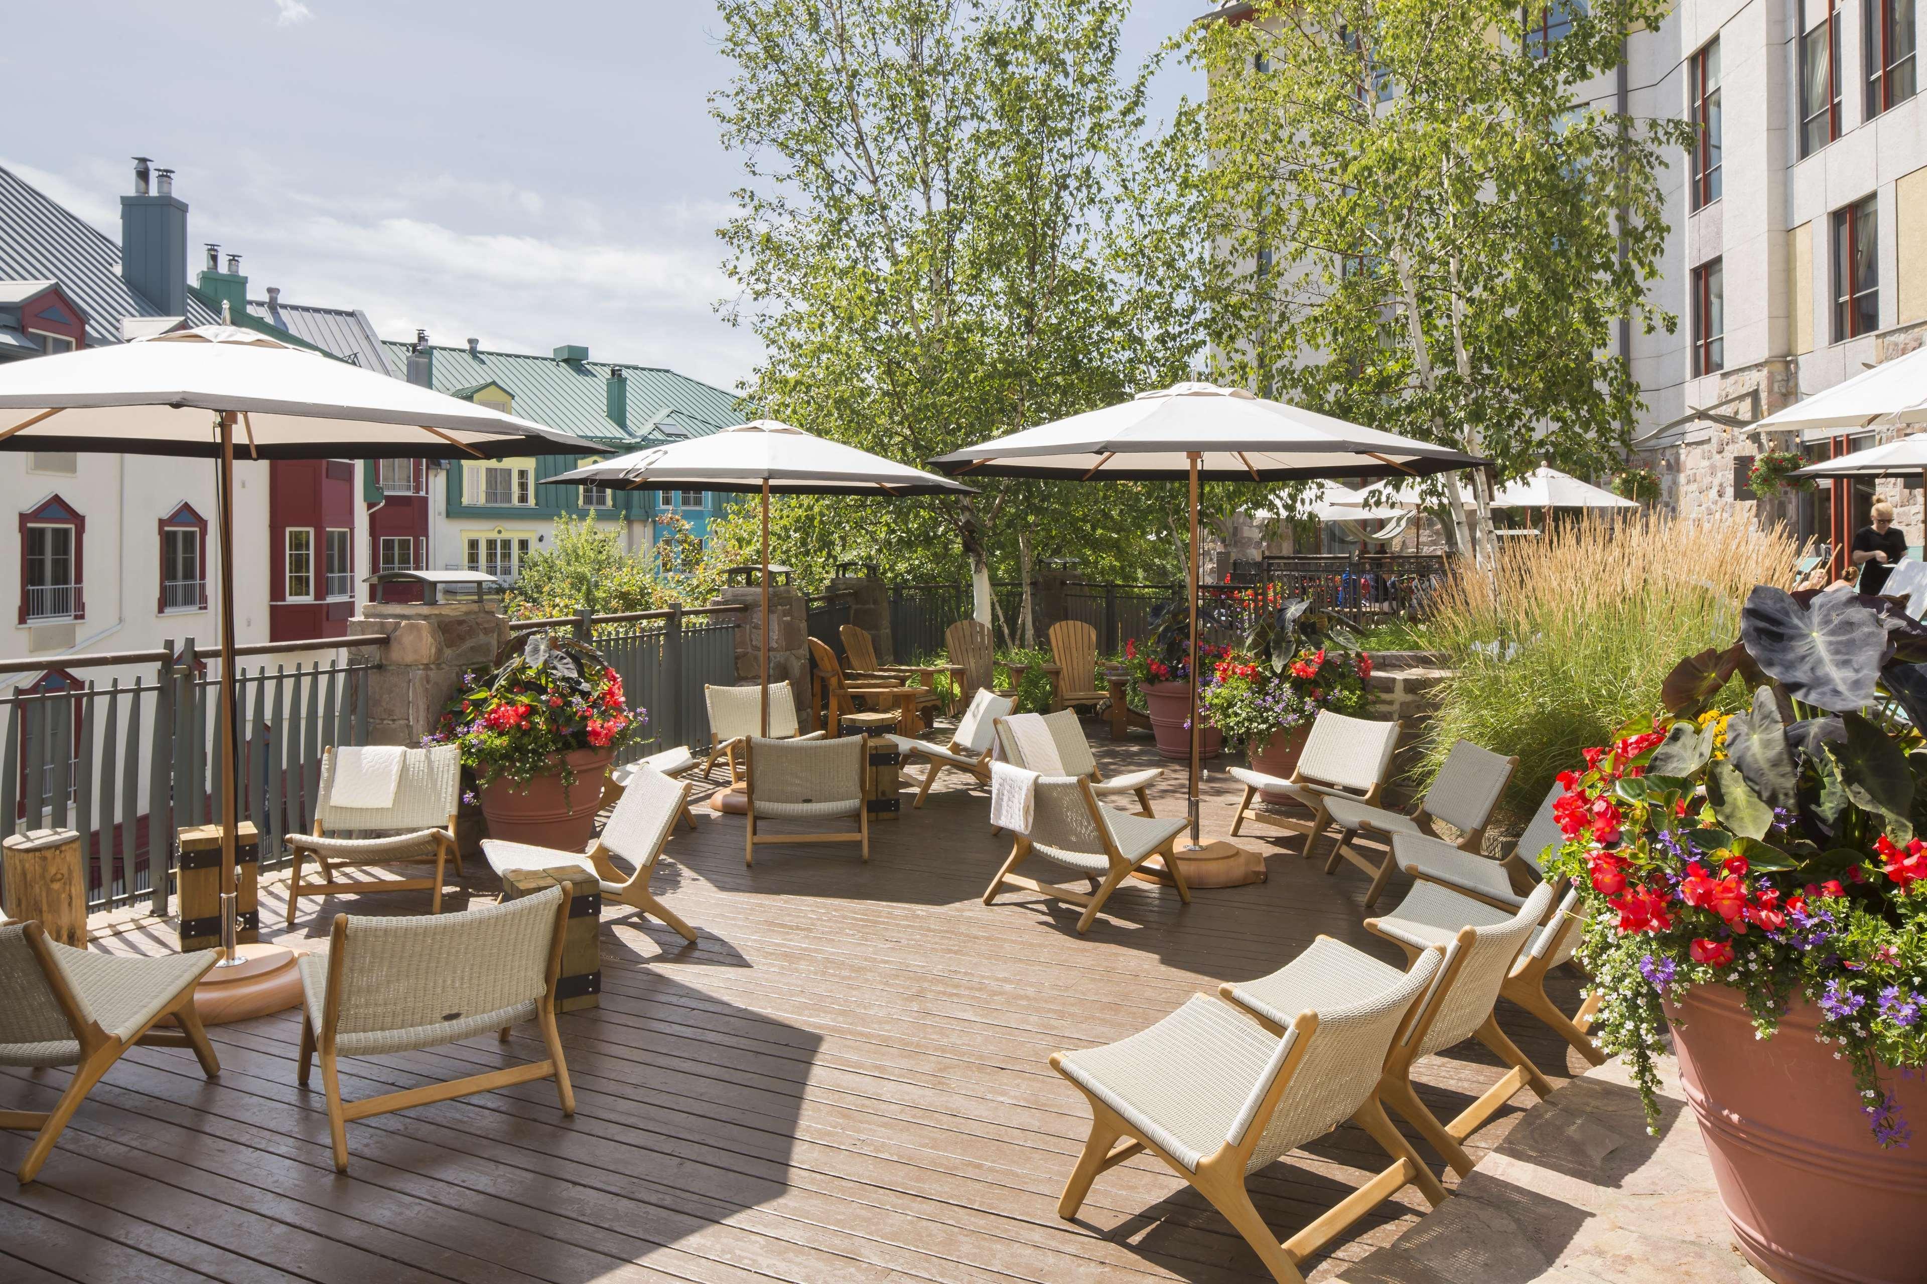
[[[389,370],[409,375],[412,345],[383,339]],[[607,441],[615,450],[676,437],[707,437],[748,420],[734,393],[657,366],[576,362],[528,352],[470,352],[428,345],[437,393],[462,397],[489,383],[515,398],[515,414],[576,437]],[[609,372],[628,379],[628,431],[609,418]]]

